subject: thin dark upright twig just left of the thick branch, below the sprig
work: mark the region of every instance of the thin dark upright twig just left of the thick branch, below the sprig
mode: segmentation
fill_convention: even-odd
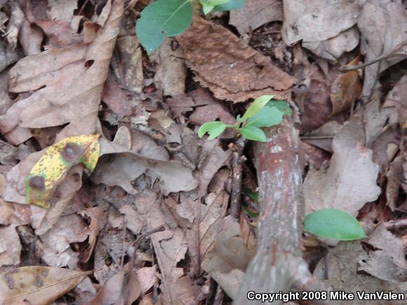
[[[242,156],[244,145],[246,140],[243,140],[242,137],[236,141],[236,151],[233,153],[232,168],[233,168],[233,177],[232,177],[232,194],[230,196],[230,215],[234,218],[239,219],[241,211],[241,166],[246,157]]]

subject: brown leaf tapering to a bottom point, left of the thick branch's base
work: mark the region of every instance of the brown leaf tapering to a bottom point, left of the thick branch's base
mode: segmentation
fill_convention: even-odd
[[[252,255],[239,237],[217,240],[202,268],[234,299]]]

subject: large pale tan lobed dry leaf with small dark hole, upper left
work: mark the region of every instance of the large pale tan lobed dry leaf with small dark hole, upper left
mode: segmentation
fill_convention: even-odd
[[[91,43],[46,50],[20,60],[9,75],[9,90],[35,91],[15,102],[1,116],[0,130],[8,137],[15,129],[44,128],[70,123],[62,134],[93,133],[103,83],[123,13],[124,1],[112,4],[105,27],[98,29]],[[22,131],[21,131],[22,133]],[[13,143],[27,140],[28,133],[13,137]],[[9,137],[8,137],[9,138]]]

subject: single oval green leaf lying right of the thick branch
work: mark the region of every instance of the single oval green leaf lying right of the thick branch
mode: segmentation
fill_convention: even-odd
[[[318,210],[308,214],[304,222],[304,229],[317,236],[337,240],[354,240],[366,237],[356,218],[341,210]]]

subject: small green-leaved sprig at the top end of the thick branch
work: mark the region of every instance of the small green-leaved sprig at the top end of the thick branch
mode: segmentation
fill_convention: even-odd
[[[243,116],[236,117],[234,125],[227,125],[220,121],[204,123],[199,128],[199,137],[208,133],[208,139],[213,140],[226,128],[232,128],[247,140],[266,142],[267,137],[261,128],[278,125],[283,120],[283,116],[291,115],[291,109],[286,102],[272,98],[273,95],[262,95],[256,98]]]

